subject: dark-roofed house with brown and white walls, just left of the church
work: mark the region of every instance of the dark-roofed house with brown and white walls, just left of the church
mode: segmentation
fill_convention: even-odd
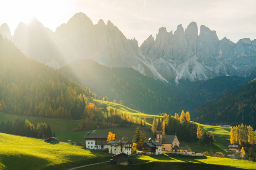
[[[146,142],[142,146],[142,150],[147,155],[161,155],[163,153],[162,146],[159,142]]]

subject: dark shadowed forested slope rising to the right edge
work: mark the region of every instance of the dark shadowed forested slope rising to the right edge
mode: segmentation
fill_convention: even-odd
[[[201,123],[246,124],[256,127],[256,79],[216,100],[197,107],[194,120]]]

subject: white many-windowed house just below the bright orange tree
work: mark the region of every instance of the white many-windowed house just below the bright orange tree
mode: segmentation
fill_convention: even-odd
[[[125,153],[131,155],[132,141],[131,140],[110,140],[108,143],[108,153],[118,154]]]

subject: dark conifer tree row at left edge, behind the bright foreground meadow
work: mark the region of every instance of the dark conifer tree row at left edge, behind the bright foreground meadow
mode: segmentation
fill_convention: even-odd
[[[27,119],[16,119],[14,123],[8,121],[6,124],[2,121],[0,123],[0,132],[43,139],[53,136],[50,125],[47,126],[46,123],[38,122],[35,126]]]

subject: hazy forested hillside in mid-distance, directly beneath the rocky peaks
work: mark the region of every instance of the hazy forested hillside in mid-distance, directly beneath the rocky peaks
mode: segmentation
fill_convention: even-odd
[[[70,63],[60,71],[97,95],[106,95],[111,101],[122,100],[124,105],[149,114],[165,112],[174,115],[183,109],[193,110],[251,80],[251,77],[222,76],[197,82],[180,80],[176,85],[174,80],[164,83],[132,68],[109,68],[88,59]]]

